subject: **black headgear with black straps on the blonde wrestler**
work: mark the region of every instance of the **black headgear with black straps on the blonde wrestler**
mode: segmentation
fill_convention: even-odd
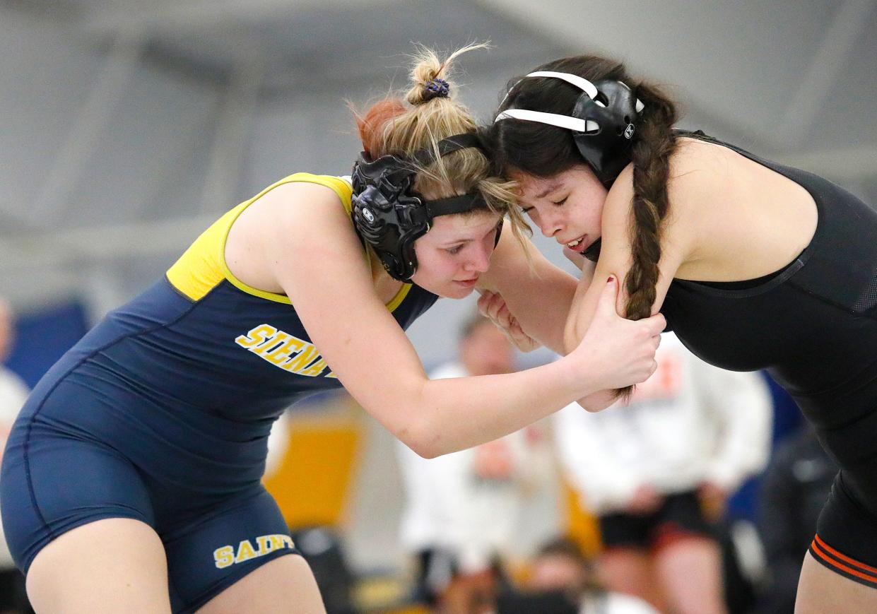
[[[438,154],[466,147],[481,147],[474,132],[440,140]],[[377,160],[360,153],[353,165],[353,227],[364,243],[374,247],[389,275],[402,282],[410,281],[417,270],[414,241],[430,229],[432,218],[487,208],[477,191],[431,201],[415,193],[417,168],[433,161],[436,152],[427,147],[408,157],[387,154]]]

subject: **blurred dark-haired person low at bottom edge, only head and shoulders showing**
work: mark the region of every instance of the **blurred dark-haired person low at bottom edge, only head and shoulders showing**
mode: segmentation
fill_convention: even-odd
[[[524,591],[504,591],[497,614],[656,614],[635,596],[612,593],[597,581],[594,563],[570,539],[548,542],[531,562]]]

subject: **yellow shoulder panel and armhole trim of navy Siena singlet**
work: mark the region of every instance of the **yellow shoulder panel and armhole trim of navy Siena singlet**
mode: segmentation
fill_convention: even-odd
[[[195,242],[189,246],[189,249],[182,254],[180,259],[171,268],[168,268],[168,281],[193,301],[201,300],[219,282],[227,279],[235,287],[247,294],[260,296],[277,303],[289,303],[289,297],[287,296],[253,288],[235,277],[225,264],[225,239],[228,237],[228,232],[232,228],[234,221],[248,206],[255,203],[261,196],[266,195],[277,186],[294,182],[317,183],[332,189],[338,195],[347,215],[351,214],[350,200],[353,189],[345,179],[330,175],[311,175],[310,173],[289,175],[263,189],[253,198],[240,203],[232,211],[228,211],[222,218],[217,219],[216,222],[210,225],[210,228],[195,239]],[[387,304],[389,311],[395,310],[402,303],[409,290],[410,284],[403,284],[402,289]]]

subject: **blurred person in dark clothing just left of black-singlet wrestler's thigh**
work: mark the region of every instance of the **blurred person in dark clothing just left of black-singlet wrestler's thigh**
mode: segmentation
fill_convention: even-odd
[[[759,531],[765,546],[768,584],[759,611],[792,614],[801,560],[838,466],[809,425],[785,439],[761,481]]]

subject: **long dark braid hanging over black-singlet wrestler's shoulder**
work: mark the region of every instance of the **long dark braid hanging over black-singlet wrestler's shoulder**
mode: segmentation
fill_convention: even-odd
[[[667,217],[667,180],[670,157],[676,149],[672,126],[676,121],[674,104],[647,86],[637,89],[645,103],[645,118],[638,126],[633,144],[633,201],[631,218],[631,268],[624,279],[627,305],[624,317],[631,320],[652,315],[660,262],[661,222]],[[617,390],[617,396],[631,396],[633,387]]]

